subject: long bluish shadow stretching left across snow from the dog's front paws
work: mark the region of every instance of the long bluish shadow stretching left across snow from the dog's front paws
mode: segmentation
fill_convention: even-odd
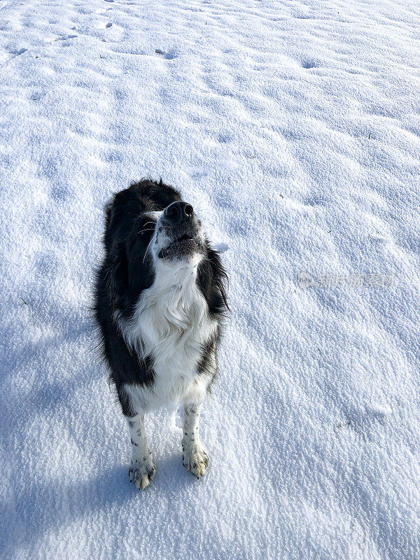
[[[183,468],[181,454],[157,458],[156,474],[151,486],[139,491],[130,484],[128,464],[101,468],[89,479],[78,483],[41,483],[32,481],[18,496],[11,499],[2,514],[10,527],[6,550],[10,554],[18,547],[34,545],[49,531],[59,533],[78,519],[84,523],[95,519],[102,510],[130,508],[141,516],[156,510],[162,495],[171,498],[202,484]]]

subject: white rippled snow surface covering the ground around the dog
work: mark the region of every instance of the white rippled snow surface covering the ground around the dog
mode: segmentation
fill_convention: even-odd
[[[0,1],[2,560],[419,559],[419,14]],[[104,202],[148,175],[221,244],[232,315],[207,474],[163,411],[139,493],[88,307]]]

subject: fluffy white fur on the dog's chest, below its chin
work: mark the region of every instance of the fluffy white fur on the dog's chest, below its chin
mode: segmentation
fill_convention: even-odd
[[[119,321],[127,345],[153,359],[153,386],[126,386],[141,409],[179,402],[190,391],[205,392],[209,379],[197,374],[197,365],[217,323],[209,317],[196,280],[197,265],[191,263],[158,269],[132,320]]]

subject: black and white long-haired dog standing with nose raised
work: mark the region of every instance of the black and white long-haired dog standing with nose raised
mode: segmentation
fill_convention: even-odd
[[[145,489],[155,468],[144,413],[183,402],[183,465],[197,478],[209,458],[200,409],[216,375],[228,279],[193,207],[178,190],[134,183],[106,205],[105,258],[94,314],[130,426],[130,479]]]

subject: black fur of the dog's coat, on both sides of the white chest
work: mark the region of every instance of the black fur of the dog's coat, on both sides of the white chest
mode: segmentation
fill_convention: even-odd
[[[120,388],[123,384],[153,386],[151,359],[140,360],[130,351],[113,318],[116,311],[123,318],[130,318],[142,290],[154,280],[153,260],[146,255],[146,248],[153,235],[154,224],[145,212],[162,211],[172,202],[181,201],[178,190],[160,182],[144,179],[116,193],[105,207],[105,255],[97,269],[94,286],[94,317],[99,325],[102,356],[108,363],[110,379],[116,384],[123,414],[132,416],[130,403]],[[199,265],[197,285],[209,306],[209,314],[220,326],[228,308],[225,285],[228,276],[217,251],[209,241],[207,254]],[[218,339],[218,337],[217,337]],[[198,372],[204,371],[208,354],[214,350],[217,339],[203,348]]]

